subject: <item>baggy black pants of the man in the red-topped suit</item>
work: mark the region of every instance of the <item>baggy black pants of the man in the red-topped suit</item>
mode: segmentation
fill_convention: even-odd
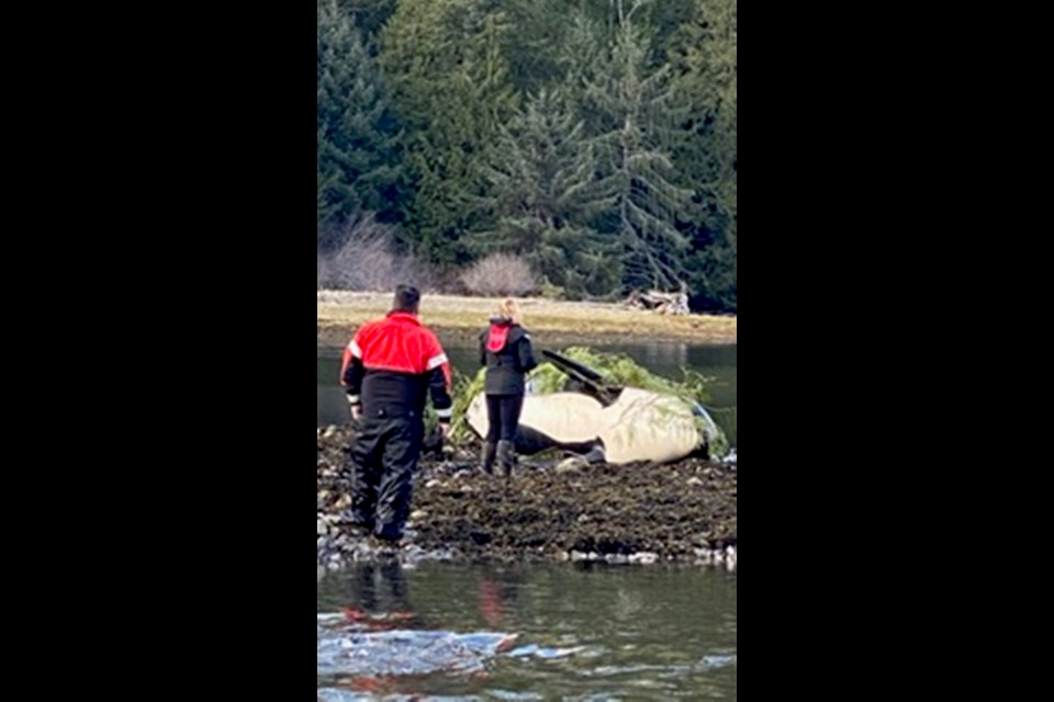
[[[421,418],[368,418],[351,448],[351,518],[381,539],[403,535],[423,434]]]

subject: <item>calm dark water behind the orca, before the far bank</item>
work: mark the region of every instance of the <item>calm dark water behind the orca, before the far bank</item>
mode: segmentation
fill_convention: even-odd
[[[453,364],[455,373],[471,375],[479,369],[479,351],[463,343],[444,344]],[[681,369],[688,367],[715,377],[707,407],[728,435],[737,444],[736,346],[706,346],[675,341],[650,343],[595,343],[598,351],[626,353],[649,371],[680,380]],[[559,350],[559,349],[556,349]],[[540,354],[539,354],[540,356]],[[540,360],[540,359],[539,359]],[[317,410],[318,426],[341,424],[350,416],[344,390],[339,386],[340,351],[318,350]]]

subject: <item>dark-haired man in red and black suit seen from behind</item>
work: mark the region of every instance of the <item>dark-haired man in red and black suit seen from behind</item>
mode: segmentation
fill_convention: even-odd
[[[365,324],[344,352],[341,384],[361,433],[351,448],[354,483],[346,521],[397,542],[410,514],[428,393],[439,432],[450,427],[452,373],[447,354],[417,318],[421,293],[395,288],[384,319]]]

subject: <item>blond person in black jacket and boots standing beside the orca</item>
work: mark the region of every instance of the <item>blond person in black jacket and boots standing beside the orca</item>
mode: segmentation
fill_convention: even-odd
[[[495,461],[505,476],[513,472],[516,453],[513,440],[524,407],[527,374],[538,365],[530,336],[520,326],[519,306],[504,301],[491,317],[490,328],[480,335],[480,363],[486,366],[487,432],[483,442],[482,469],[494,473]]]

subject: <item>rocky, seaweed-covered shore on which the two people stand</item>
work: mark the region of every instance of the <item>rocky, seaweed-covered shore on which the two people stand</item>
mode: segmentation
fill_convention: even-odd
[[[478,442],[422,457],[397,550],[340,524],[351,427],[317,429],[317,565],[397,558],[677,564],[736,569],[737,468],[675,463],[580,465],[524,457],[511,479],[475,466]]]

